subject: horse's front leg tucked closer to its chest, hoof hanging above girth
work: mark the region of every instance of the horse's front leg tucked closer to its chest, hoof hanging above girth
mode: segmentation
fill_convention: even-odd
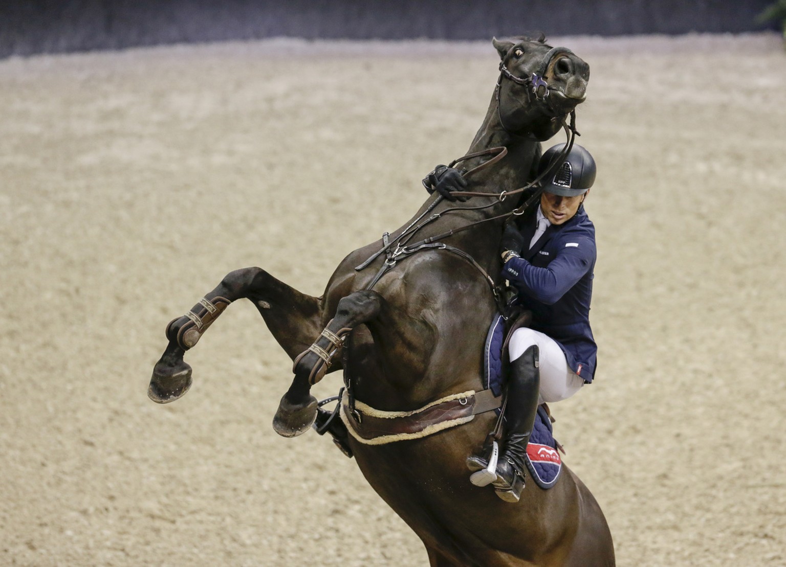
[[[383,305],[384,298],[376,291],[355,291],[341,298],[336,316],[319,335],[317,342],[295,360],[292,386],[281,397],[273,418],[276,433],[284,437],[296,437],[314,423],[317,399],[310,393],[311,386],[321,380],[332,360],[339,357],[347,333],[357,325],[373,320]]]

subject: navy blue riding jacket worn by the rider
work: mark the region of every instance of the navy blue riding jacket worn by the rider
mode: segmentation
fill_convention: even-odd
[[[531,327],[553,338],[567,365],[585,382],[595,375],[597,346],[589,327],[595,267],[595,227],[580,205],[570,220],[550,225],[526,249],[537,228],[536,212],[519,229],[525,250],[502,267],[502,277],[519,291],[516,302],[533,313]]]

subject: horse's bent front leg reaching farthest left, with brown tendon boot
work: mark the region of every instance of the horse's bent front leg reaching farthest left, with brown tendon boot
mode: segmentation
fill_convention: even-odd
[[[228,273],[215,289],[184,316],[167,325],[167,349],[152,371],[148,396],[159,404],[177,400],[191,387],[191,367],[183,360],[208,327],[237,299],[249,299],[259,309],[274,338],[294,358],[321,329],[321,301],[302,294],[261,268]]]

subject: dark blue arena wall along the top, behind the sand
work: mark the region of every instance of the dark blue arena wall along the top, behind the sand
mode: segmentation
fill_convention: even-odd
[[[761,31],[774,0],[0,0],[0,57],[277,36],[489,39]]]

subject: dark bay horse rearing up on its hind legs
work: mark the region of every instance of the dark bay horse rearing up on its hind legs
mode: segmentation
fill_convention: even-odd
[[[247,298],[295,360],[274,417],[277,433],[294,437],[309,429],[318,412],[310,387],[340,368],[347,429],[435,408],[461,415],[419,433],[403,427],[371,440],[353,432],[346,440],[372,487],[421,537],[432,565],[614,565],[604,515],[567,467],[549,490],[527,481],[516,504],[468,479],[465,459],[481,451],[496,417],[467,416],[460,406],[479,404],[483,342],[498,311],[492,288],[501,229],[527,196],[505,192],[527,186],[540,141],[567,130],[567,115],[584,100],[589,80],[583,60],[544,38],[494,39],[494,47],[500,79],[470,157],[461,162],[472,199],[431,196],[406,225],[344,258],[319,298],[263,269],[227,274],[167,326],[169,344],[149,396],[160,403],[182,396],[191,385],[185,350],[227,305]]]

